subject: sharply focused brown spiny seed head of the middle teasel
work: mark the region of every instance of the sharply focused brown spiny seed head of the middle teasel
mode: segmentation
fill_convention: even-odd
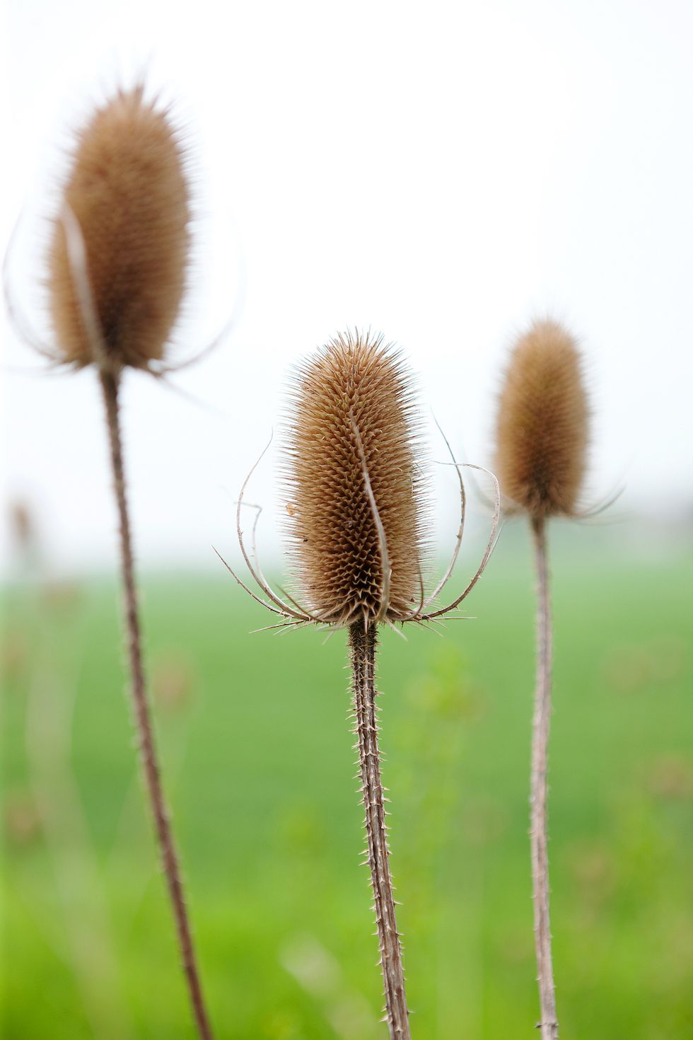
[[[381,338],[340,335],[298,370],[284,504],[295,577],[322,621],[368,627],[416,610],[425,536],[421,463],[411,379]],[[387,602],[366,474],[391,568]]]

